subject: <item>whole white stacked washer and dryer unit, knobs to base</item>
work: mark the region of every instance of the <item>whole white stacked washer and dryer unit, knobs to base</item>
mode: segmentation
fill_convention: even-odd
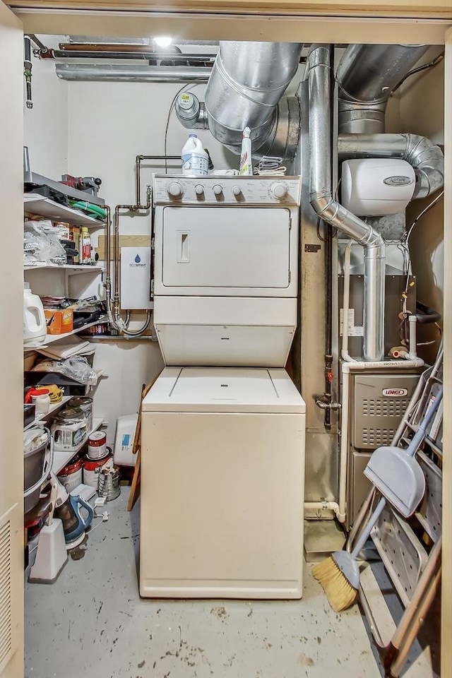
[[[166,367],[143,400],[143,597],[302,596],[299,198],[299,177],[153,177]]]

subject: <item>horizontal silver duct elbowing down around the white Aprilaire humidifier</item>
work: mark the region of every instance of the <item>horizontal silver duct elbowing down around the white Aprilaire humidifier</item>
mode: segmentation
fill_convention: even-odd
[[[444,186],[444,155],[441,148],[417,134],[340,134],[339,160],[354,157],[399,157],[416,174],[413,198],[425,198]]]

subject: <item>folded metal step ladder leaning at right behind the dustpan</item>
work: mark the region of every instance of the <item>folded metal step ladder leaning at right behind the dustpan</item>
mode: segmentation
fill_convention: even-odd
[[[405,448],[417,431],[429,403],[442,383],[443,348],[439,349],[432,367],[420,376],[415,393],[394,435],[392,444]],[[382,594],[375,595],[376,579],[361,576],[359,604],[362,607],[371,634],[379,648],[386,676],[395,678],[420,631],[425,614],[439,590],[441,581],[441,506],[442,506],[442,408],[436,413],[417,460],[426,478],[426,491],[412,518],[405,520],[390,504],[386,504],[381,518],[371,531],[374,542],[393,588],[405,607],[400,622],[393,622],[388,609],[384,609]],[[372,489],[359,511],[347,540],[351,551],[376,503],[381,498]],[[370,568],[369,568],[370,570]],[[368,581],[368,584],[366,583]],[[377,584],[378,585],[378,584]],[[373,590],[372,590],[373,587]],[[378,621],[377,621],[378,620]],[[392,620],[392,624],[391,624]],[[383,625],[391,624],[391,638],[383,641]],[[387,634],[386,634],[387,635]]]

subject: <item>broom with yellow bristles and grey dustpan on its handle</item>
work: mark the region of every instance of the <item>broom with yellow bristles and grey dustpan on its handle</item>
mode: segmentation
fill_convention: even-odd
[[[335,612],[347,609],[356,600],[359,590],[357,557],[381,516],[386,501],[392,504],[403,518],[409,518],[424,496],[425,477],[415,459],[415,454],[427,435],[429,424],[436,414],[442,396],[443,387],[440,386],[436,395],[431,396],[427,412],[406,449],[384,446],[372,453],[364,475],[382,496],[352,552],[336,551],[312,568],[314,577],[323,586],[328,602]]]

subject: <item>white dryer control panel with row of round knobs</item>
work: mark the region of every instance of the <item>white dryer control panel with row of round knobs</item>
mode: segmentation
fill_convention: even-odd
[[[153,177],[154,205],[299,205],[299,177],[240,177],[185,174]]]

